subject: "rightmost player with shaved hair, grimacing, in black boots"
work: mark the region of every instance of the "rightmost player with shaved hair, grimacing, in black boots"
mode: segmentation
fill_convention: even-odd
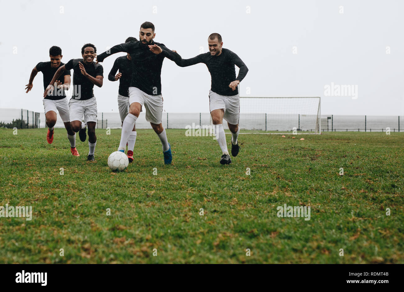
[[[227,121],[231,131],[231,155],[237,156],[240,147],[238,146],[238,127],[240,114],[240,97],[237,86],[248,72],[244,62],[232,51],[222,48],[223,42],[220,34],[210,34],[208,37],[209,52],[200,54],[191,59],[176,61],[178,66],[187,67],[198,63],[204,63],[208,67],[212,79],[212,86],[209,91],[210,115],[215,130],[215,136],[223,155],[221,164],[230,164],[231,158],[227,151],[226,137],[223,129],[223,118]],[[236,65],[240,68],[236,77]]]

